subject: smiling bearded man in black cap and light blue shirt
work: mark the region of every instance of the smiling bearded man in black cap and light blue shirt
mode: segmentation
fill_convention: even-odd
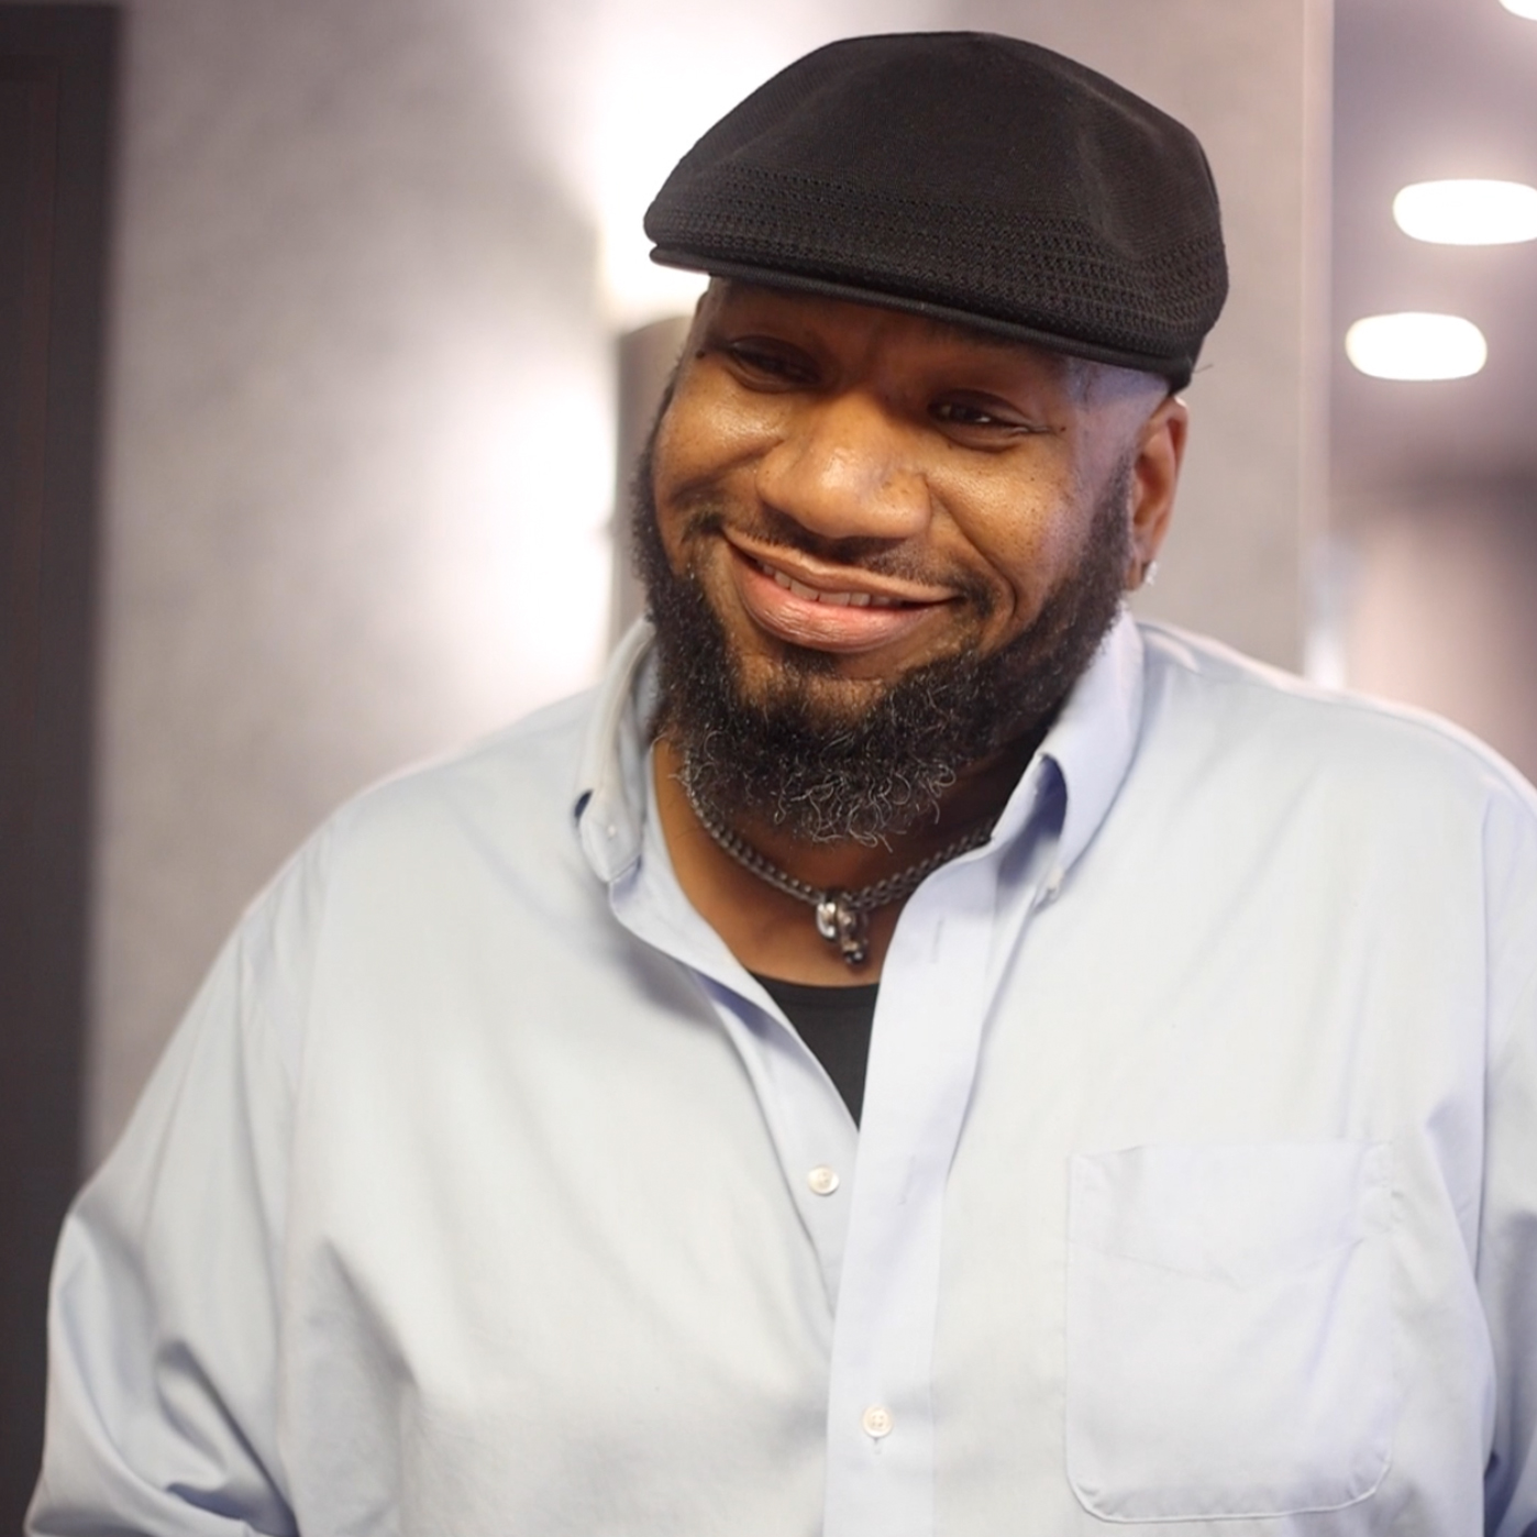
[[[1537,1531],[1537,808],[1120,612],[1194,140],[850,40],[679,164],[655,636],[343,810],[60,1247],[37,1534]]]

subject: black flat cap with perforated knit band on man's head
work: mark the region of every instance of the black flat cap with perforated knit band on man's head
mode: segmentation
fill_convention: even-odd
[[[987,32],[807,54],[684,155],[646,232],[664,266],[953,320],[1176,389],[1228,290],[1194,134]]]

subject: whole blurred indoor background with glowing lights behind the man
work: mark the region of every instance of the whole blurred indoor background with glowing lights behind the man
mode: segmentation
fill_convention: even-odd
[[[808,48],[1014,32],[1190,123],[1233,298],[1147,612],[1537,773],[1522,3],[0,3],[0,1525],[63,1205],[244,904],[595,679],[698,292],[641,214]],[[1396,215],[1448,178],[1508,186]]]

